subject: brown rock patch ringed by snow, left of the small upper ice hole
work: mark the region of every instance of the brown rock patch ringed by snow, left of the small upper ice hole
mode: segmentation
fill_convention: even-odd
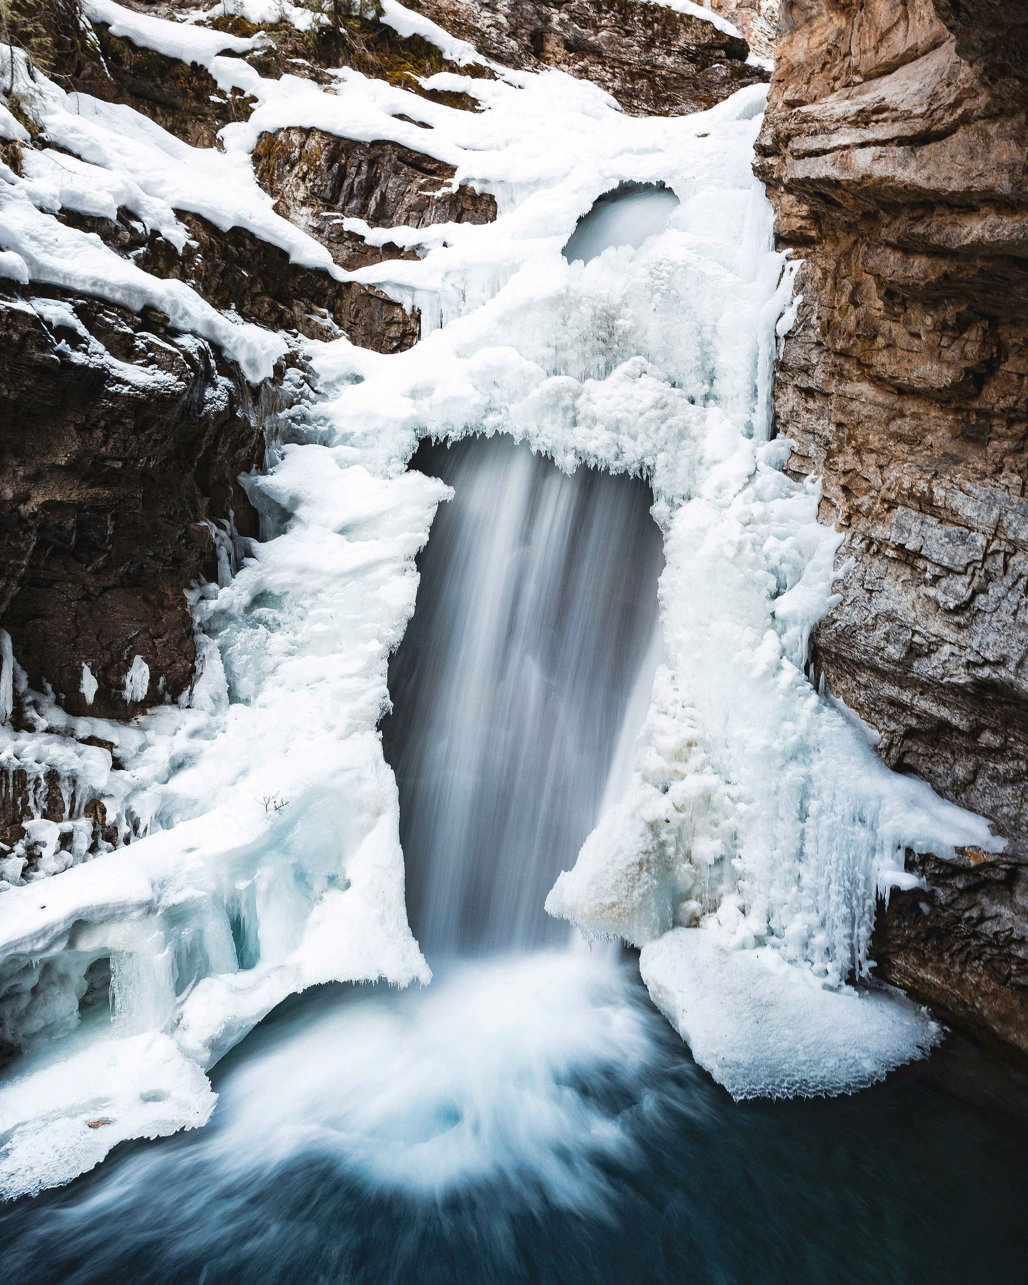
[[[398,143],[365,144],[324,130],[280,130],[257,140],[253,171],[265,191],[275,197],[278,213],[326,245],[335,262],[348,270],[416,256],[391,242],[369,245],[344,230],[343,218],[362,218],[373,227],[487,224],[496,218],[491,193],[468,185],[451,190],[454,166]]]

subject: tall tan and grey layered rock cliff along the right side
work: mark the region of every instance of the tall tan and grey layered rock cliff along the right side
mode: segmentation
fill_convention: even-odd
[[[804,266],[775,412],[846,540],[816,676],[1007,853],[908,857],[879,973],[1028,1051],[1028,12],[784,0],[756,171]]]

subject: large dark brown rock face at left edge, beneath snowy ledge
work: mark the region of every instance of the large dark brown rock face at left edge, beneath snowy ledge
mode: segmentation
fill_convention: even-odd
[[[215,523],[258,535],[238,478],[263,460],[274,387],[164,320],[0,288],[0,619],[30,685],[73,714],[177,698],[195,660],[184,590],[217,580]],[[130,703],[135,657],[149,681]]]

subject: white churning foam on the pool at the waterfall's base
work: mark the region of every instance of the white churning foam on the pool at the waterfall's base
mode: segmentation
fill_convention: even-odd
[[[585,1208],[605,1194],[603,1160],[631,1144],[582,1088],[634,1082],[648,1027],[612,959],[455,964],[424,993],[308,1011],[231,1070],[204,1150],[222,1172],[323,1158],[384,1190],[500,1183]]]

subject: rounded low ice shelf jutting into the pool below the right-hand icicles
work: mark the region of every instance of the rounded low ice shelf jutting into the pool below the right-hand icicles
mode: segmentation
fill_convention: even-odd
[[[644,946],[639,970],[693,1056],[736,1101],[853,1092],[939,1041],[928,1013],[898,991],[824,989],[775,951],[730,951],[703,928],[675,928]]]

